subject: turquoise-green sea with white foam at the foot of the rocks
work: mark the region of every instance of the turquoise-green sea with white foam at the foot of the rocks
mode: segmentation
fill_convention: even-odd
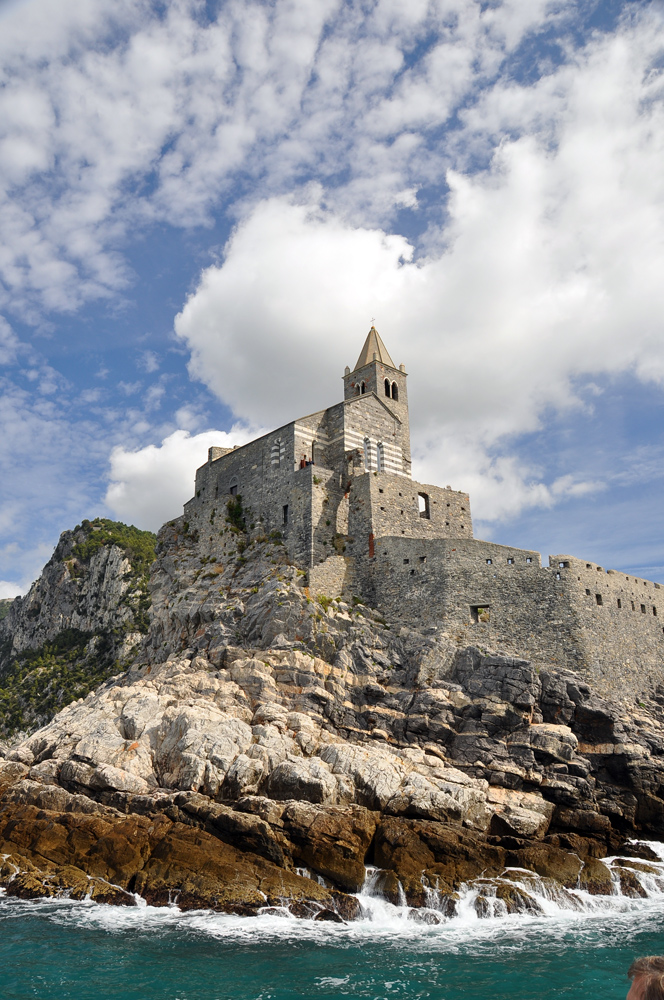
[[[664,954],[664,844],[646,892],[559,891],[511,870],[539,912],[511,913],[495,882],[469,885],[446,918],[431,890],[413,911],[358,894],[362,919],[296,919],[286,906],[257,917],[177,906],[0,896],[2,1000],[618,1000],[639,955]],[[610,860],[610,859],[609,859]],[[479,907],[477,897],[486,903]],[[492,895],[494,894],[494,895]]]

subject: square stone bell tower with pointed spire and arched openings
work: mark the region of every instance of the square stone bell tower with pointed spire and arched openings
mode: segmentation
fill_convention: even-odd
[[[401,421],[404,462],[410,470],[410,424],[406,366],[397,366],[388,354],[375,326],[367,334],[364,347],[353,371],[344,372],[344,399],[357,399],[373,393]],[[408,473],[410,475],[410,471]]]

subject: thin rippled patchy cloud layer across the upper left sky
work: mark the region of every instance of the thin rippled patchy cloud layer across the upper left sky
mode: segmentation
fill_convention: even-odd
[[[0,32],[0,279],[28,319],[126,288],[136,226],[320,177],[365,221],[440,173],[432,130],[572,0],[31,0]],[[421,58],[412,53],[422,47]],[[443,153],[443,160],[446,159]],[[347,174],[344,183],[339,177]],[[414,177],[414,174],[417,177]]]

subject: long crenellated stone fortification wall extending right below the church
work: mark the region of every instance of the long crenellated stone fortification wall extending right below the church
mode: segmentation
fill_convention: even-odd
[[[355,560],[355,592],[394,620],[577,671],[606,696],[664,683],[658,584],[477,539],[378,537],[374,552]]]

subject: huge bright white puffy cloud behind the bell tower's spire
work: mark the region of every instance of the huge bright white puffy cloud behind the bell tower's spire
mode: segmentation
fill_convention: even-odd
[[[410,371],[423,477],[474,484],[485,516],[601,488],[572,472],[540,482],[509,443],[581,406],[579,376],[664,381],[654,18],[474,107],[478,147],[515,121],[525,134],[503,138],[484,171],[448,170],[444,247],[428,257],[316,201],[257,205],[177,317],[192,375],[242,419],[278,423],[338,398],[373,315]]]

